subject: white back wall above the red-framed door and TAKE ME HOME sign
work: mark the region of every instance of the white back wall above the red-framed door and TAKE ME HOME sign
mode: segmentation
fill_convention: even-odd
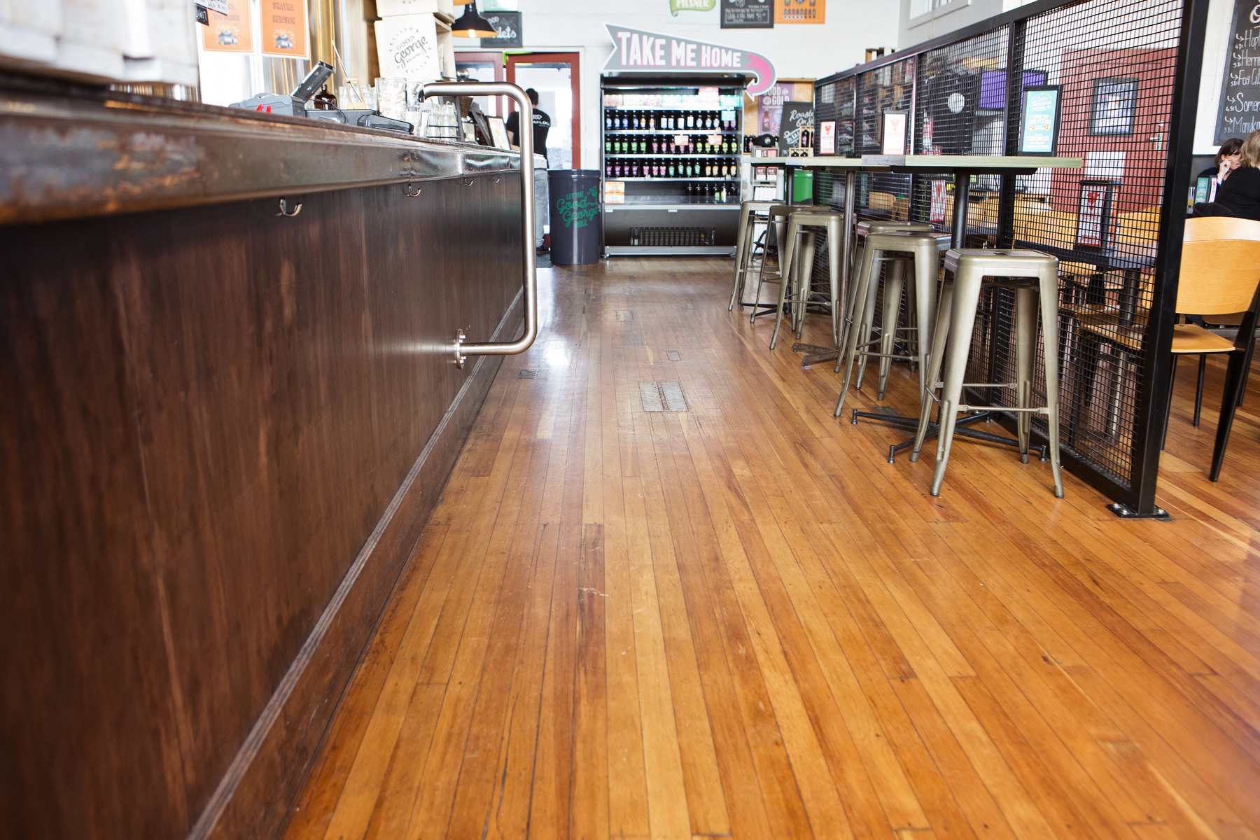
[[[897,4],[828,0],[827,23],[774,29],[722,29],[718,11],[679,11],[669,0],[519,0],[527,50],[581,53],[582,167],[598,166],[600,68],[612,52],[605,21],[748,49],[767,57],[780,78],[822,78],[862,62],[867,48],[892,47]],[[456,39],[455,49],[479,42]]]

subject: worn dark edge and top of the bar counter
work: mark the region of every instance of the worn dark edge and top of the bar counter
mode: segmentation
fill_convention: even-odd
[[[304,117],[92,88],[0,84],[0,224],[402,185],[519,166],[517,152]]]

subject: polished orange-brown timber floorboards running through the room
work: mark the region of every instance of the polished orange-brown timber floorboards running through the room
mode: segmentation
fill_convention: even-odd
[[[286,836],[1260,835],[1260,375],[1213,485],[1183,365],[1172,521],[970,441],[932,499],[730,266],[539,272]]]

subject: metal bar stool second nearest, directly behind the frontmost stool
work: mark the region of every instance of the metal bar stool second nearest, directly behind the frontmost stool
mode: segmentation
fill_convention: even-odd
[[[853,285],[852,317],[848,327],[848,340],[840,364],[844,366],[844,382],[840,384],[840,397],[835,402],[835,417],[844,409],[844,398],[849,392],[849,382],[853,378],[853,364],[861,355],[862,364],[866,364],[868,355],[887,359],[912,359],[919,363],[920,383],[924,372],[927,370],[927,348],[932,341],[932,327],[936,314],[936,281],[940,273],[940,254],[948,251],[950,234],[929,233],[926,230],[886,230],[883,233],[868,233],[866,246],[862,249],[862,266],[858,270],[857,282]],[[879,283],[879,263],[885,261],[898,261],[905,264],[905,257],[886,257],[886,253],[910,253],[915,261],[915,311],[919,314],[919,341],[916,354],[900,355],[892,353],[892,338],[896,334],[897,306],[901,301],[902,273],[892,270],[885,281],[883,309],[885,309],[885,334],[877,339],[879,351],[872,353],[869,346],[876,343],[871,339],[871,322],[876,292]],[[897,263],[895,263],[897,264]],[[879,397],[887,385],[887,373],[881,365]],[[861,388],[861,385],[859,385]],[[920,387],[920,389],[922,385]]]

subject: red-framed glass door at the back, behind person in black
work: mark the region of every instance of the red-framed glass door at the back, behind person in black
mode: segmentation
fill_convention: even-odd
[[[507,76],[513,84],[538,91],[538,107],[552,120],[547,132],[551,169],[582,166],[582,98],[577,53],[527,53],[508,55]],[[515,105],[509,102],[515,110]],[[542,152],[542,150],[537,150]]]

